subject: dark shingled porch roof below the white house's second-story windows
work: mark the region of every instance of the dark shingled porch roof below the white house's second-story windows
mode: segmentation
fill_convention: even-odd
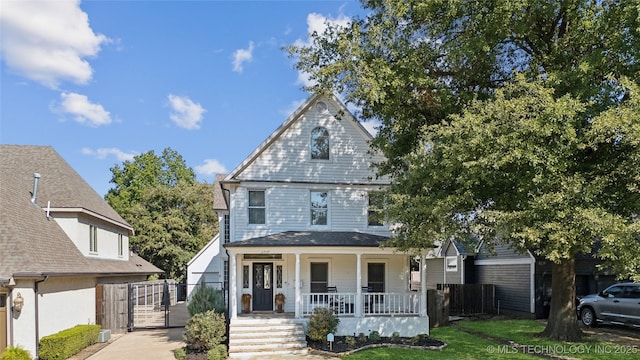
[[[355,231],[285,231],[224,244],[225,248],[291,247],[291,246],[349,246],[379,247],[389,240],[386,236]]]

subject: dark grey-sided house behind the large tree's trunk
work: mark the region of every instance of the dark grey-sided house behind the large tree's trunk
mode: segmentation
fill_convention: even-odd
[[[549,315],[551,262],[535,255],[497,244],[492,251],[478,244],[467,249],[450,240],[427,257],[427,288],[439,284],[494,284],[499,311],[526,314],[535,318]],[[597,293],[615,283],[615,276],[597,271],[600,264],[591,255],[576,257],[576,296]]]

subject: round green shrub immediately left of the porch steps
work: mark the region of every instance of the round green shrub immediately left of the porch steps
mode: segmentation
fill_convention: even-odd
[[[184,330],[187,349],[193,352],[207,352],[227,339],[224,314],[211,310],[193,315],[187,321]]]

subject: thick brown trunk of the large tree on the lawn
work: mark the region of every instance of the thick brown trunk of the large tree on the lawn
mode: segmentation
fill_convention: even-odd
[[[582,341],[576,317],[576,261],[564,260],[551,267],[551,309],[540,336],[557,341]]]

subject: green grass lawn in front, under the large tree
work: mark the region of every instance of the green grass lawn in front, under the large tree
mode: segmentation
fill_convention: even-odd
[[[584,343],[562,343],[537,338],[535,335],[544,329],[544,324],[535,320],[462,321],[457,325],[491,338],[511,340],[519,346],[505,345],[455,327],[443,327],[431,330],[431,337],[447,343],[442,351],[377,348],[344,359],[540,359],[535,353],[541,350],[575,359],[628,360],[640,356],[640,342],[637,345],[615,344],[586,337]]]

